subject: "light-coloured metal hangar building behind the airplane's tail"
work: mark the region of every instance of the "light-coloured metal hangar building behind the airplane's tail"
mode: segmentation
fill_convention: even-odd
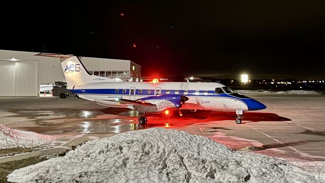
[[[0,50],[0,96],[39,96],[40,84],[66,81],[59,58],[37,52]],[[94,75],[140,81],[141,66],[131,60],[81,57]]]

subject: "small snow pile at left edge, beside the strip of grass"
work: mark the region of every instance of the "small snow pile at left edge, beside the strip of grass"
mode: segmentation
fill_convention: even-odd
[[[53,137],[35,132],[13,130],[0,124],[0,149],[13,147],[30,147],[50,143]]]

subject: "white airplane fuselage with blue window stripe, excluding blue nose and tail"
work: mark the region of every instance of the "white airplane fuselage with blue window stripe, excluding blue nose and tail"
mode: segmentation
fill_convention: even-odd
[[[228,94],[216,94],[216,88],[225,87],[209,82],[97,82],[70,86],[73,93],[90,100],[121,98],[138,100],[150,96],[178,94],[188,97],[181,109],[204,109],[219,111],[247,111],[248,106],[240,98]],[[128,107],[126,104],[107,101],[107,106]]]

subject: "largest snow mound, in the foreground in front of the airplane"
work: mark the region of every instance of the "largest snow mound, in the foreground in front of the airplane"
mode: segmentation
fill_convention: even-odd
[[[325,182],[286,160],[236,152],[206,137],[152,128],[96,139],[13,171],[13,182]]]

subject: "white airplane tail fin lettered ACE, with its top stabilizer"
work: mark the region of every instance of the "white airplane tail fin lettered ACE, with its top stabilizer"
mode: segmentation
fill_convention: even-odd
[[[37,53],[35,55],[60,58],[62,70],[68,86],[93,82],[116,82],[115,79],[90,74],[77,56],[52,53]]]

